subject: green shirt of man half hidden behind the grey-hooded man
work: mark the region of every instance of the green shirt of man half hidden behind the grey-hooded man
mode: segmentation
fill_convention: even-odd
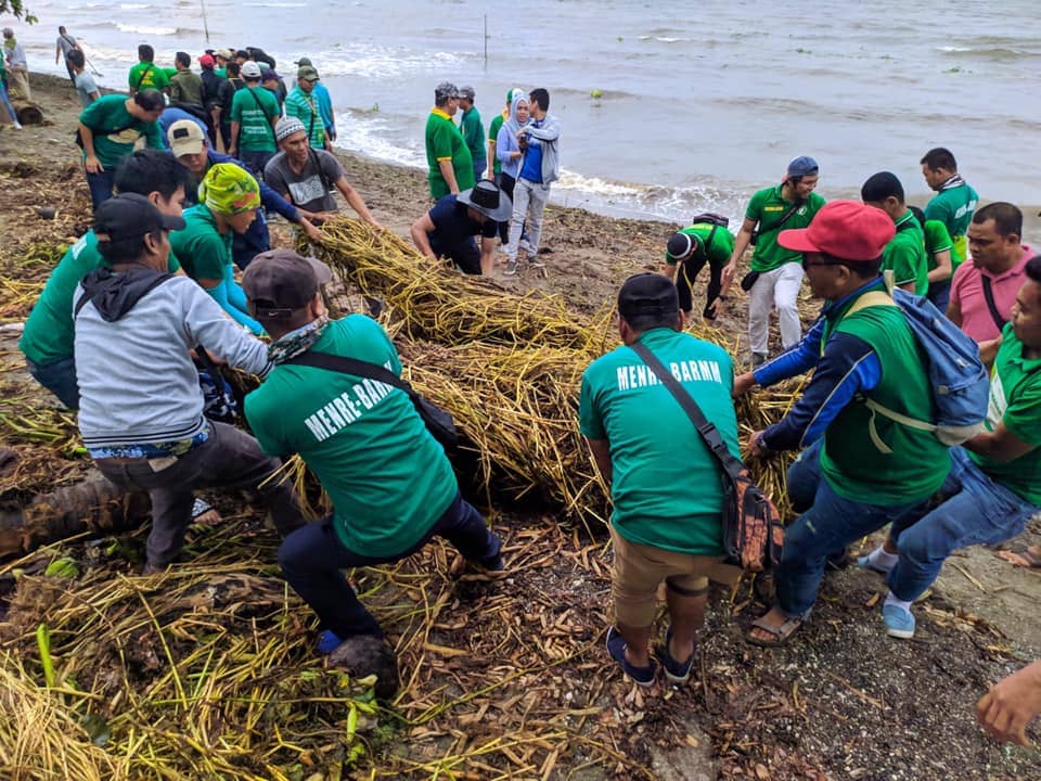
[[[18,349],[34,363],[53,363],[73,357],[73,296],[79,281],[105,261],[98,252],[98,238],[87,231],[57,261],[33,306]],[[171,252],[167,270],[176,273],[181,266]]]

